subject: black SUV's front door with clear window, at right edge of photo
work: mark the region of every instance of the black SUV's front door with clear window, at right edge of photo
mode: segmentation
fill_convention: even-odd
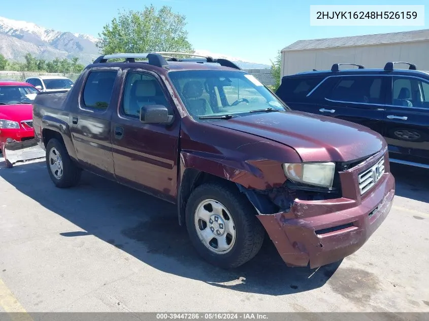
[[[429,164],[429,81],[386,77],[388,90],[383,134],[390,158]]]

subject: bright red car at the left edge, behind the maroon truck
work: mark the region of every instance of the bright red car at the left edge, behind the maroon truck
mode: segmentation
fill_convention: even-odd
[[[0,148],[6,142],[34,138],[32,102],[38,90],[30,84],[0,80]]]

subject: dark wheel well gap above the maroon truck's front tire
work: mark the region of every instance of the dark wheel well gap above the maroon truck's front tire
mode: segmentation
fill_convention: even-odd
[[[179,213],[179,224],[185,225],[185,208],[186,202],[191,194],[191,192],[198,186],[208,183],[208,182],[221,182],[225,184],[231,184],[232,186],[237,186],[221,177],[197,170],[195,168],[186,168],[183,173],[181,188],[178,200],[178,213]]]

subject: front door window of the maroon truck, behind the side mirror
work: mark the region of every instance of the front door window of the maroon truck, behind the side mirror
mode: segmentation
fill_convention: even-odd
[[[158,80],[145,73],[129,72],[126,75],[121,111],[127,116],[140,117],[140,109],[146,105],[170,106]]]

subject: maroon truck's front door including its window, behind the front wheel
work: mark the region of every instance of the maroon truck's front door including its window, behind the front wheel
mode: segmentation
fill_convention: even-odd
[[[175,200],[180,117],[156,74],[128,70],[118,109],[112,116],[112,145],[117,180],[152,195]],[[140,109],[160,104],[175,115],[173,124],[144,124]]]

